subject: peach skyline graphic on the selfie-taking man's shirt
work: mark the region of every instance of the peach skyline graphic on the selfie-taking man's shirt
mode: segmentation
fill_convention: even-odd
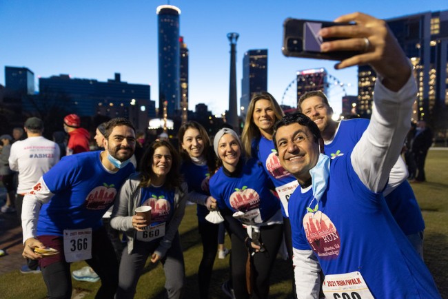
[[[316,205],[316,209],[317,207]],[[339,233],[327,215],[320,211],[308,212],[303,217],[303,228],[309,245],[319,258],[332,260],[339,256]]]

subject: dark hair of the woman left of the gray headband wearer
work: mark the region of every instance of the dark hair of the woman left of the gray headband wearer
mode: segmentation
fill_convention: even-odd
[[[190,155],[188,155],[188,153],[182,147],[183,136],[185,135],[185,132],[187,132],[187,130],[190,128],[198,130],[199,134],[202,137],[202,140],[204,142],[203,155],[205,156],[205,160],[207,161],[208,171],[211,176],[216,171],[216,156],[214,154],[210,138],[203,125],[201,125],[200,123],[196,123],[196,121],[187,121],[186,123],[181,125],[177,134],[179,140],[179,153],[181,154],[183,161],[191,161]]]

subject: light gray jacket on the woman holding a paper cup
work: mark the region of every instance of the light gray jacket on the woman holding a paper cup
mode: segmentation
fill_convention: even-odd
[[[128,253],[132,253],[134,249],[134,237],[136,230],[132,227],[132,216],[135,215],[135,208],[139,207],[141,203],[141,187],[140,175],[132,174],[120,189],[115,198],[114,209],[110,220],[110,226],[119,231],[124,231],[128,238]],[[167,227],[165,236],[163,236],[159,247],[154,251],[160,258],[163,258],[168,249],[170,249],[172,240],[176,235],[183,215],[185,214],[185,194],[187,194],[187,184],[183,183],[181,188],[176,187],[174,192],[174,215]]]

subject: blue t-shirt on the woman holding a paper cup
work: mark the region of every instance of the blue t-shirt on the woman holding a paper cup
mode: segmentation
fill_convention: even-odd
[[[154,186],[141,188],[140,205],[151,207],[151,225],[169,223],[174,214],[174,190]]]

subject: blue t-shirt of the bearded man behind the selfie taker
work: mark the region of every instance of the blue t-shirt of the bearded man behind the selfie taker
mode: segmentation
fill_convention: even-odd
[[[369,120],[363,118],[340,121],[338,132],[331,143],[326,144],[325,154],[335,158],[351,152],[367,129]],[[386,203],[396,222],[406,235],[425,229],[425,221],[411,185],[403,181],[386,196]]]

